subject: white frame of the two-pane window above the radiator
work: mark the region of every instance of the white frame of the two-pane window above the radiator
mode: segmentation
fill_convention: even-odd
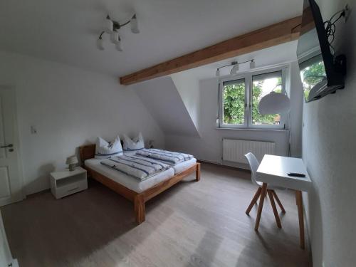
[[[221,129],[266,129],[266,130],[282,130],[286,128],[288,113],[281,114],[280,125],[253,125],[252,124],[252,79],[254,75],[265,73],[273,73],[281,71],[282,73],[282,92],[286,93],[286,74],[288,66],[278,66],[275,68],[266,68],[263,70],[249,71],[246,73],[239,73],[238,75],[229,75],[225,78],[219,79],[219,110],[218,110],[218,127]],[[245,80],[245,110],[244,110],[244,124],[224,124],[224,82],[233,80]]]

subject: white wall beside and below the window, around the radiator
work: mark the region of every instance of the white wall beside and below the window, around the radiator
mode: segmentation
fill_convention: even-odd
[[[298,74],[296,63],[291,64],[293,75]],[[300,80],[290,80],[292,100],[292,152],[295,157],[300,156],[301,147],[301,116],[303,95]],[[287,131],[271,130],[221,130],[216,129],[216,114],[218,110],[218,80],[216,78],[200,81],[200,115],[199,132],[201,137],[166,136],[166,147],[169,150],[191,153],[198,159],[221,163],[222,139],[262,140],[276,142],[276,153],[288,155]],[[224,162],[228,163],[228,162]]]

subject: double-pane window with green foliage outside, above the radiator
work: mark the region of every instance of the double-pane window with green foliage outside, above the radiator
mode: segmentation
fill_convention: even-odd
[[[283,128],[284,116],[262,115],[258,103],[271,91],[285,92],[285,73],[286,68],[278,68],[221,80],[219,127]]]

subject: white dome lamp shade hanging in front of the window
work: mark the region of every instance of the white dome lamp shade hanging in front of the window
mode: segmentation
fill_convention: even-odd
[[[281,114],[290,110],[290,99],[283,93],[271,92],[261,98],[258,112],[261,114]]]

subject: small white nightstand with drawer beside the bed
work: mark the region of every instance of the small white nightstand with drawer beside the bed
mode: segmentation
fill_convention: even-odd
[[[51,172],[51,192],[56,199],[88,189],[87,171],[76,167],[70,172]]]

